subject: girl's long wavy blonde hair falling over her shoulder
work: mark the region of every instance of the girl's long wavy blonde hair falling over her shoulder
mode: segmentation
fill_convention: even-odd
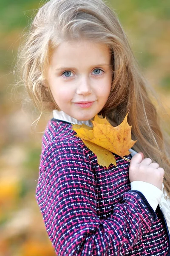
[[[160,127],[160,117],[149,97],[145,81],[115,12],[102,0],[50,0],[34,17],[20,47],[17,65],[20,81],[41,111],[58,109],[45,86],[46,71],[54,49],[62,41],[80,39],[108,45],[113,64],[113,81],[108,102],[99,114],[119,124],[128,113],[134,150],[164,168],[164,186],[170,193],[170,145]],[[152,92],[151,92],[152,93]],[[166,140],[164,137],[166,136]]]

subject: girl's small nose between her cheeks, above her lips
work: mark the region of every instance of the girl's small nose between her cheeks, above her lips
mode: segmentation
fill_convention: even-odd
[[[79,79],[78,85],[77,85],[77,94],[82,95],[88,95],[91,94],[91,82],[89,81],[88,77],[82,77],[82,79]]]

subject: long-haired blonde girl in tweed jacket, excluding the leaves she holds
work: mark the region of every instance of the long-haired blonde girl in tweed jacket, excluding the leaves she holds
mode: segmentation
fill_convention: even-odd
[[[170,147],[115,13],[102,0],[46,2],[19,63],[35,106],[54,113],[36,198],[57,255],[170,255]],[[116,126],[128,111],[131,162],[100,166],[72,124],[102,114]]]

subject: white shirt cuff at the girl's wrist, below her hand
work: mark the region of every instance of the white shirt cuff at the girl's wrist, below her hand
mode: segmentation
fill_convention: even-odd
[[[155,211],[161,201],[161,196],[163,194],[161,190],[153,184],[139,180],[131,182],[130,185],[131,190],[138,190],[144,195],[150,206]]]

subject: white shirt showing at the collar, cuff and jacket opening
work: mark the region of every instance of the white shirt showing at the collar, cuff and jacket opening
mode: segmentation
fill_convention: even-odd
[[[63,111],[54,110],[53,116],[55,119],[62,120],[65,122],[70,122],[72,124],[78,124],[78,125],[85,124],[93,127],[93,123],[91,122],[91,120],[79,121],[74,117],[69,116]],[[130,148],[129,151],[132,157],[135,154],[137,154],[137,152],[132,148]],[[159,204],[159,207],[162,210],[164,217],[167,221],[168,230],[170,232],[170,198],[167,197],[167,199],[165,200],[165,196],[167,195],[167,192],[164,189],[164,184],[162,183],[162,190],[144,181],[133,181],[130,183],[130,186],[131,186],[131,190],[140,191],[144,195],[144,197],[147,199],[148,203],[150,204],[150,206],[153,208],[154,211],[156,210]]]

